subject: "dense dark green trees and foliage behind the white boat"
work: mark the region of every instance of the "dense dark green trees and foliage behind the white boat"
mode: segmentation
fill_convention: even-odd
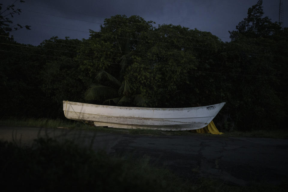
[[[225,43],[140,16],[112,16],[88,39],[52,37],[39,46],[18,44],[1,28],[1,116],[63,118],[62,100],[141,107],[225,101],[216,117],[222,130],[280,128],[288,114],[288,29],[263,14],[259,0]]]

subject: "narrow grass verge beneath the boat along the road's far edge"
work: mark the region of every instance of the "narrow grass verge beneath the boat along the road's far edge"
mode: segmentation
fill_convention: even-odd
[[[288,130],[275,129],[275,130],[253,130],[253,131],[232,131],[224,132],[222,135],[212,134],[197,134],[194,131],[161,131],[153,129],[121,129],[121,128],[107,128],[107,127],[94,127],[86,122],[78,122],[74,120],[62,119],[34,119],[34,118],[8,118],[1,119],[0,125],[2,126],[31,126],[31,127],[45,127],[45,128],[69,128],[76,130],[86,131],[99,131],[107,133],[122,133],[122,134],[135,134],[135,135],[203,135],[211,137],[266,137],[275,139],[288,139]]]

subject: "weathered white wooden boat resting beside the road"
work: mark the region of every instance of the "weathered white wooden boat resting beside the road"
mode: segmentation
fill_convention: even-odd
[[[224,104],[225,102],[203,107],[145,108],[63,101],[63,111],[67,119],[90,121],[94,122],[95,126],[175,131],[205,127]]]

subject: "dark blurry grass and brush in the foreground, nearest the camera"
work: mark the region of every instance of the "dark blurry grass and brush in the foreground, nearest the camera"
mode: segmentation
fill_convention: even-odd
[[[200,178],[187,180],[149,163],[150,158],[110,156],[72,141],[38,138],[32,146],[0,141],[3,191],[286,191],[281,185],[234,186]]]

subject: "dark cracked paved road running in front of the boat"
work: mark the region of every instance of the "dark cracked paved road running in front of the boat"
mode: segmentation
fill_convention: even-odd
[[[29,145],[38,136],[73,139],[109,154],[148,155],[186,178],[212,177],[245,185],[288,178],[288,140],[246,137],[135,136],[67,129],[1,127],[0,140]],[[94,139],[93,139],[94,138]]]

